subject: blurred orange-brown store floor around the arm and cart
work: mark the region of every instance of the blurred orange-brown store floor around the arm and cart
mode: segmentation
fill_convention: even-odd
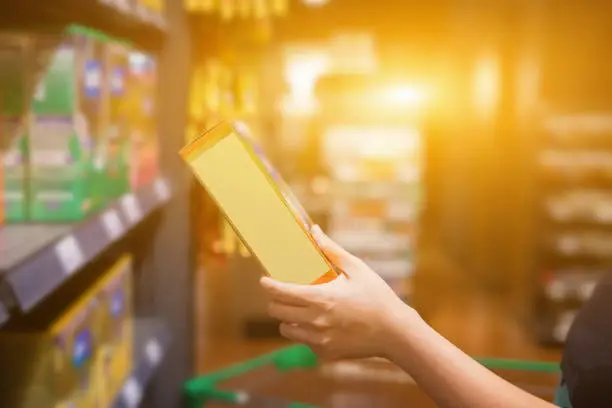
[[[452,265],[445,265],[444,257],[437,253],[422,256],[422,262],[414,281],[414,304],[424,319],[436,330],[475,357],[503,357],[533,361],[556,362],[560,350],[539,347],[525,329],[520,319],[520,305],[506,296],[492,294],[474,285],[465,284]],[[202,262],[196,296],[202,299],[197,305],[196,324],[198,339],[199,372],[207,373],[228,365],[242,362],[276,350],[289,343],[282,339],[247,340],[240,335],[239,322],[233,312],[232,282],[223,265]],[[431,271],[431,272],[428,272]],[[409,380],[378,381],[380,375],[368,377],[372,371],[367,366],[360,370],[340,366],[338,369],[307,370],[279,375],[255,371],[224,384],[252,390],[253,394],[275,398],[293,398],[311,404],[351,407],[360,406],[418,406],[430,407],[433,403],[411,384]],[[337,368],[337,367],[336,367]],[[395,370],[387,364],[385,370]],[[334,371],[335,370],[335,371]],[[274,371],[274,370],[272,370]],[[361,372],[357,377],[356,372]],[[335,374],[330,374],[335,373]],[[348,374],[347,374],[348,373]],[[364,374],[365,373],[365,374]],[[401,377],[402,373],[395,373]],[[500,372],[500,375],[528,391],[551,398],[557,380],[556,375]],[[269,380],[264,381],[265,378]],[[387,378],[383,376],[383,378]],[[393,378],[393,377],[390,377]],[[409,386],[412,385],[412,386]],[[314,398],[311,390],[320,390]],[[245,394],[246,395],[246,394]],[[323,399],[321,399],[323,398]],[[270,401],[252,401],[252,406],[284,406]]]

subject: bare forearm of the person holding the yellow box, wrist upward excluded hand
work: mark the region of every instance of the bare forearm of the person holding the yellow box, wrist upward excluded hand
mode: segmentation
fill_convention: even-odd
[[[429,327],[409,308],[398,311],[387,357],[442,408],[551,408],[493,374]]]

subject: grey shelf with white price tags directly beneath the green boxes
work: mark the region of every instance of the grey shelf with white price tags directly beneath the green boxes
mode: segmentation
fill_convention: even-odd
[[[32,309],[169,198],[160,178],[76,225],[0,229],[0,276],[10,298],[5,304]]]

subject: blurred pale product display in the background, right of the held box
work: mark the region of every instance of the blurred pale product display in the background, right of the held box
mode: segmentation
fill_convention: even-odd
[[[330,235],[408,300],[422,197],[420,132],[410,123],[332,122],[322,137]]]

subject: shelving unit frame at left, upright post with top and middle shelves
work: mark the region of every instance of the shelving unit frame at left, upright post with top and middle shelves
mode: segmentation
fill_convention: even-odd
[[[113,408],[180,407],[182,383],[195,365],[190,179],[177,154],[184,143],[192,50],[182,2],[164,3],[163,19],[131,0],[24,0],[0,7],[3,29],[54,33],[77,24],[154,54],[158,61],[157,134],[164,177],[75,224],[0,226],[3,332],[27,327],[64,293],[84,293],[118,254],[132,254],[133,371]]]

